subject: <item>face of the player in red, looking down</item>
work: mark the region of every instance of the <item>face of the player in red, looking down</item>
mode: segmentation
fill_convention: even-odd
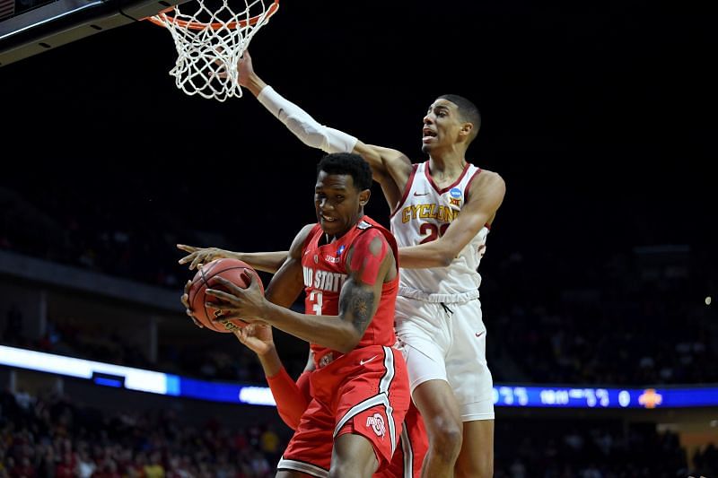
[[[314,187],[314,207],[321,229],[331,236],[341,236],[363,215],[363,204],[369,190],[359,191],[348,174],[320,171]]]

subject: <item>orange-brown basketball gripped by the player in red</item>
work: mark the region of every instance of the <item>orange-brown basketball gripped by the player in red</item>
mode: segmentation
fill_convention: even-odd
[[[207,289],[216,289],[218,291],[231,293],[231,291],[228,291],[222,284],[213,280],[215,277],[223,277],[242,289],[246,289],[248,283],[245,281],[245,278],[242,277],[244,273],[252,274],[254,276],[252,280],[258,282],[259,289],[264,293],[264,287],[262,286],[262,281],[259,279],[257,271],[239,259],[215,259],[199,267],[197,274],[195,274],[195,277],[192,279],[192,284],[189,286],[188,302],[189,308],[194,311],[194,317],[197,318],[203,326],[215,332],[230,333],[247,325],[246,322],[239,318],[220,320],[219,323],[215,323],[212,319],[215,318],[215,312],[217,310],[205,307],[206,301],[212,302],[219,300],[214,296],[206,295],[205,291]]]

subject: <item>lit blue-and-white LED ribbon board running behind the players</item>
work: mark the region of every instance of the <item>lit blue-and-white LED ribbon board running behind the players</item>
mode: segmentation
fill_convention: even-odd
[[[52,353],[0,345],[0,365],[86,378],[93,383],[160,395],[211,402],[275,406],[268,387],[210,382],[152,370],[134,369],[99,361],[85,361]],[[97,378],[115,378],[98,380]],[[496,384],[496,406],[542,408],[684,408],[718,406],[718,387],[592,388],[521,387]]]

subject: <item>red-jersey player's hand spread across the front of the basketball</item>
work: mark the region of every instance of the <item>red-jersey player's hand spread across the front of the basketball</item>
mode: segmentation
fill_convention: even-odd
[[[258,280],[253,274],[242,273],[244,283],[247,284],[246,289],[242,289],[235,283],[228,281],[220,275],[215,275],[213,282],[216,285],[222,285],[227,292],[219,289],[207,289],[206,295],[211,295],[218,300],[206,302],[205,306],[220,311],[220,315],[215,320],[227,320],[230,318],[239,318],[245,322],[256,322],[262,320],[264,306],[266,303],[264,294],[258,285]]]

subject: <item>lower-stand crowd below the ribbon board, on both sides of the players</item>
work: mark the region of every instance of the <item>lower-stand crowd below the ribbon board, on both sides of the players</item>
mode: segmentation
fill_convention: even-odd
[[[169,400],[169,399],[168,399]],[[247,417],[248,421],[250,417]],[[276,422],[234,428],[207,417],[201,426],[162,411],[121,413],[63,395],[0,394],[0,477],[265,478],[285,437]],[[718,450],[687,464],[678,436],[655,425],[504,418],[497,422],[497,478],[716,476]]]

